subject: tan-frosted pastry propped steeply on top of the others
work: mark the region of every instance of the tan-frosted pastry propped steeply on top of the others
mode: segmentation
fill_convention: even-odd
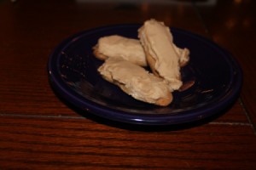
[[[163,77],[171,91],[180,88],[183,82],[179,54],[183,53],[180,53],[173,43],[169,27],[157,20],[147,20],[138,30],[138,37],[143,44],[148,65],[154,74]],[[184,55],[187,52],[185,51]]]

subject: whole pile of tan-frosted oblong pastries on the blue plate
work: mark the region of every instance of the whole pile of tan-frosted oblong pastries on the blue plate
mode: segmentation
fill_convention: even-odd
[[[94,47],[96,58],[105,62],[98,69],[108,82],[133,98],[166,106],[172,92],[183,84],[180,67],[189,61],[189,49],[177,48],[169,27],[147,20],[137,39],[113,35],[102,37]],[[149,66],[152,73],[143,66]]]

